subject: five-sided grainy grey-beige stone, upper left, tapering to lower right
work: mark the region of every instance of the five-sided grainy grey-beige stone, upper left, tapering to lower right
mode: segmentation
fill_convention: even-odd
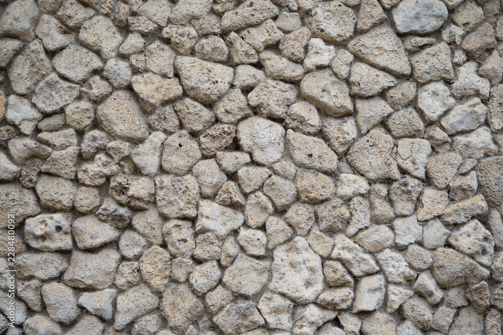
[[[122,36],[109,18],[97,15],[86,21],[78,38],[91,50],[99,52],[105,59],[115,56],[122,43]]]

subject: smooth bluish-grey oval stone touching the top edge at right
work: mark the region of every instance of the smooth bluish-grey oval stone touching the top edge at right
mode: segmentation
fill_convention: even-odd
[[[447,8],[439,0],[402,1],[393,8],[393,21],[401,34],[428,34],[447,20]]]

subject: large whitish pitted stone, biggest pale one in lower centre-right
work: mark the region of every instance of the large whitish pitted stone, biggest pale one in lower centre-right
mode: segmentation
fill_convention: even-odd
[[[275,249],[272,271],[270,289],[297,303],[309,303],[322,291],[321,259],[301,237]]]

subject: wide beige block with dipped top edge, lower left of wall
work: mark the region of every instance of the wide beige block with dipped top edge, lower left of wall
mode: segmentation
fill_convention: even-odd
[[[72,287],[105,288],[114,282],[119,259],[120,254],[112,247],[96,254],[74,250],[63,281]]]

